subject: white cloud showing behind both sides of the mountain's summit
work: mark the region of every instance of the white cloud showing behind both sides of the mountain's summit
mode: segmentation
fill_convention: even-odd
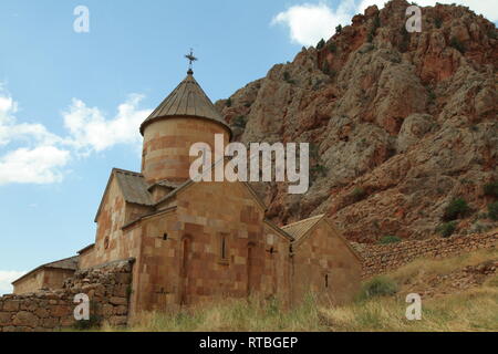
[[[307,46],[315,45],[320,39],[331,38],[335,33],[338,24],[350,24],[354,14],[363,13],[372,4],[382,9],[386,2],[387,0],[342,0],[335,10],[325,2],[305,2],[278,13],[271,24],[287,25],[293,43]],[[435,6],[436,2],[463,4],[490,21],[498,21],[496,0],[418,0],[416,2],[421,7]]]

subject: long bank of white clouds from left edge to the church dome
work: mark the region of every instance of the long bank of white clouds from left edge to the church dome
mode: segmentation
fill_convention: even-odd
[[[73,98],[62,113],[65,136],[42,124],[18,123],[18,103],[0,83],[0,186],[62,181],[73,155],[102,152],[117,144],[139,147],[141,123],[152,110],[138,110],[142,95],[133,94],[106,118],[97,107]]]

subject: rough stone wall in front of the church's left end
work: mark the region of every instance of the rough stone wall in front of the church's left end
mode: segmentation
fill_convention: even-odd
[[[127,323],[133,259],[77,271],[63,289],[0,298],[0,332],[44,332],[76,324],[74,296],[90,298],[92,321]]]

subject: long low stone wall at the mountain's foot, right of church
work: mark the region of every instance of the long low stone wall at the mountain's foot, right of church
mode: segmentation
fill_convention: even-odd
[[[363,258],[363,278],[397,269],[417,258],[446,258],[484,248],[496,248],[498,231],[404,241],[391,244],[351,244]]]

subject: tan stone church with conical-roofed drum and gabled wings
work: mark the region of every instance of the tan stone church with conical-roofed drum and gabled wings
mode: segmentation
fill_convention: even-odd
[[[139,127],[142,171],[113,169],[95,243],[13,282],[14,293],[58,289],[75,271],[133,259],[129,313],[222,298],[298,303],[310,291],[333,302],[359,290],[361,261],[325,216],[279,227],[247,183],[189,178],[189,148],[231,131],[187,77]]]

